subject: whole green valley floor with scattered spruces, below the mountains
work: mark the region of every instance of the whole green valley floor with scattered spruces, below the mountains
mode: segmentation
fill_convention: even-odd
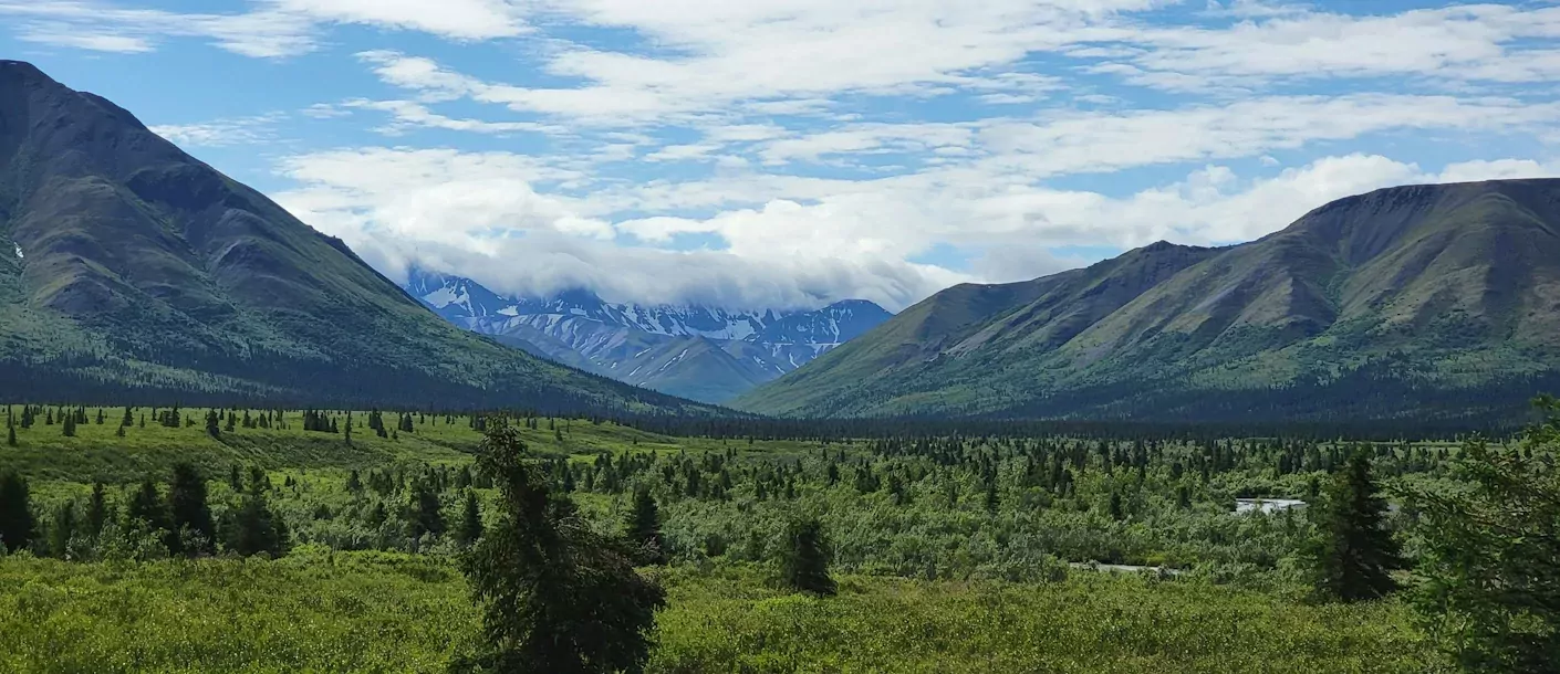
[[[0,669],[1554,671],[1560,405],[1533,419],[19,403]]]

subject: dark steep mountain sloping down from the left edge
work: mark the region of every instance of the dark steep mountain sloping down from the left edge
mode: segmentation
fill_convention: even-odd
[[[0,395],[708,409],[459,330],[134,115],[0,61]]]

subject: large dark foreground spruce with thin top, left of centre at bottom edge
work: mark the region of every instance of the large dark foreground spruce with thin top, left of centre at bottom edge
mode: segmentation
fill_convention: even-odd
[[[498,517],[460,565],[487,648],[456,669],[641,671],[666,593],[554,497],[515,428],[502,419],[484,428],[479,462],[498,484]]]

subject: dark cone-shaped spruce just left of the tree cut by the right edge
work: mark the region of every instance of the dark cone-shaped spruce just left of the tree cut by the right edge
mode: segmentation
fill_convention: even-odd
[[[1360,601],[1396,590],[1392,570],[1401,568],[1398,543],[1387,529],[1387,501],[1377,495],[1365,450],[1349,455],[1315,511],[1317,537],[1304,559],[1317,593]]]

